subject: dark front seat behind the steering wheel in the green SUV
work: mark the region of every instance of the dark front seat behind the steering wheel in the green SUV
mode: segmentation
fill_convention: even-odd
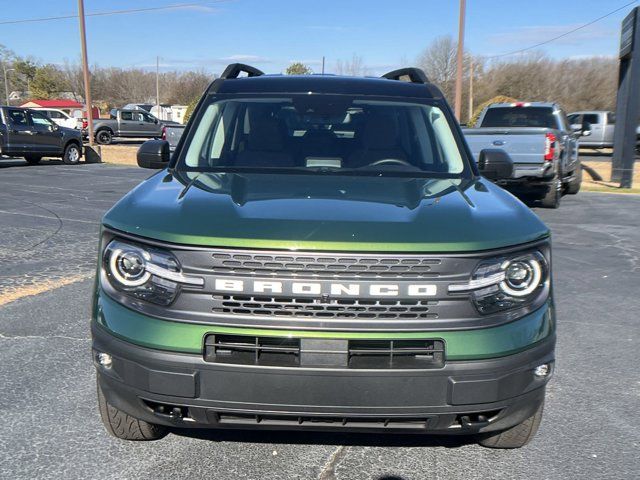
[[[385,158],[407,160],[407,155],[398,145],[398,126],[387,115],[375,115],[362,131],[362,147],[349,156],[350,168],[364,167]]]

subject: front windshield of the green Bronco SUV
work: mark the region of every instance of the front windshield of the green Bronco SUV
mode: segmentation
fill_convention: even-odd
[[[233,98],[204,107],[178,168],[460,176],[437,106],[345,95]]]

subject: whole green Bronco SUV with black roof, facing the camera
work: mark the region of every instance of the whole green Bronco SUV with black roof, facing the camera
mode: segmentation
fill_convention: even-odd
[[[233,64],[171,158],[150,140],[138,163],[161,170],[104,216],[93,296],[111,434],[535,435],[554,365],[549,230],[488,180],[509,157],[476,165],[421,70]]]

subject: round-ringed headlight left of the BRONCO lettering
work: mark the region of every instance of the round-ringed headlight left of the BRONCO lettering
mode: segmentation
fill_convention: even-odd
[[[204,279],[183,275],[173,255],[121,240],[104,250],[102,271],[111,286],[127,295],[159,305],[169,305],[180,285],[204,285]]]

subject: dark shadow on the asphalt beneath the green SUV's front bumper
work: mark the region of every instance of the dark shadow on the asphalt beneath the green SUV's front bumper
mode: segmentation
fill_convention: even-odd
[[[242,442],[293,445],[344,445],[358,447],[445,447],[460,448],[475,444],[473,436],[427,435],[399,433],[353,433],[296,430],[244,430],[244,429],[171,429],[181,437],[211,442]]]

